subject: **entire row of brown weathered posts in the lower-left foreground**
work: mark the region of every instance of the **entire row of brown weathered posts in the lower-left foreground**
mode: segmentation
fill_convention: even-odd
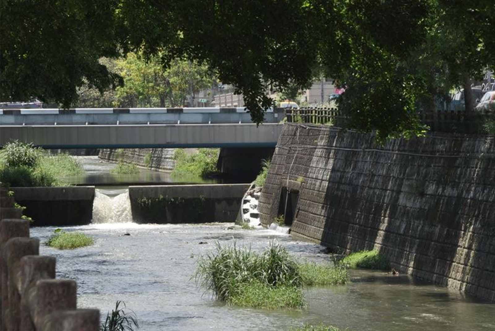
[[[0,209],[4,201],[0,187]],[[55,258],[39,246],[27,220],[0,220],[1,331],[98,331],[99,310],[76,309],[76,282],[54,279]]]

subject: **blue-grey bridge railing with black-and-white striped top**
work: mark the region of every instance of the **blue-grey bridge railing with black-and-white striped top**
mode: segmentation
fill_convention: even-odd
[[[265,123],[278,123],[285,109],[269,109]],[[0,109],[0,125],[246,124],[244,108]]]

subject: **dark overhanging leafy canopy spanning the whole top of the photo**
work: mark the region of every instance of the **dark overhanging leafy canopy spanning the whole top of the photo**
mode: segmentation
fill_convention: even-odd
[[[434,95],[449,86],[464,85],[469,94],[469,79],[495,64],[492,0],[1,0],[0,6],[15,18],[0,23],[2,99],[55,97],[67,105],[84,77],[100,90],[118,83],[100,56],[134,51],[159,57],[165,67],[174,59],[207,63],[244,94],[253,122],[261,123],[273,104],[267,86],[305,86],[322,68],[347,87],[340,107],[350,125],[376,129],[384,139],[421,132],[418,103],[432,108]]]

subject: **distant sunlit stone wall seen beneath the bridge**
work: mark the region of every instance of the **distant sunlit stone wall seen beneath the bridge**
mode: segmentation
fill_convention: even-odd
[[[103,148],[98,157],[105,161],[138,165],[144,168],[170,172],[174,169],[175,148]]]

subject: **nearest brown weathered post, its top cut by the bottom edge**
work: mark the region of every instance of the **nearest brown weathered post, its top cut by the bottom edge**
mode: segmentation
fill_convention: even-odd
[[[99,310],[78,309],[50,314],[40,331],[98,331]]]

